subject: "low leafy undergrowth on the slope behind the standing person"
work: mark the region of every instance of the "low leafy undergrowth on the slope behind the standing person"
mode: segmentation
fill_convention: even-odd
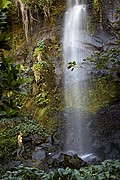
[[[0,124],[0,159],[9,159],[14,156],[17,149],[17,135],[21,130],[24,137],[38,134],[41,138],[47,138],[46,129],[28,118],[1,119]]]

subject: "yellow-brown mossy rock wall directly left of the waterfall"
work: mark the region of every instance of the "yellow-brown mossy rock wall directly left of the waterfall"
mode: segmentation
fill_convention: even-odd
[[[31,9],[28,9],[28,12],[30,10]],[[32,21],[32,24],[30,23],[31,17],[28,17],[28,39],[25,37],[25,29],[23,28],[24,24],[22,22],[20,5],[15,11],[16,16],[19,19],[18,22],[16,21],[16,17],[12,14],[12,26],[9,26],[11,36],[10,44],[12,47],[11,55],[16,63],[24,62],[24,67],[29,69],[29,71],[27,71],[27,75],[33,76],[34,78],[33,82],[27,86],[28,95],[21,95],[17,97],[18,105],[22,107],[22,113],[34,118],[37,122],[42,122],[44,124],[49,124],[48,119],[50,117],[52,118],[54,112],[59,110],[60,80],[59,82],[57,80],[58,77],[56,76],[55,70],[56,64],[54,62],[57,62],[59,67],[62,64],[61,22],[63,22],[64,10],[64,1],[54,1],[50,9],[49,18],[45,18],[42,13],[39,13],[39,17],[37,17],[33,11],[32,15],[35,17],[35,20]],[[28,13],[28,15],[30,14]],[[33,54],[40,41],[44,41],[46,46],[46,49],[43,52],[44,55],[42,60],[47,62],[50,68],[47,72],[42,72],[39,77],[39,81],[36,81],[32,67],[36,62],[38,62],[38,59],[37,57],[34,57]]]

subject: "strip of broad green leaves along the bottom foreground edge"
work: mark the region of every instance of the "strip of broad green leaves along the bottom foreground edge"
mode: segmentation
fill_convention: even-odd
[[[119,180],[120,161],[106,160],[100,165],[88,165],[80,170],[59,168],[56,171],[45,173],[36,168],[20,165],[13,171],[7,171],[2,180],[31,179],[31,180]]]

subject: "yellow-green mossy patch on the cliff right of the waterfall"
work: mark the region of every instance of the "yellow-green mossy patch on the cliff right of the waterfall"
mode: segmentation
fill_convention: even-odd
[[[116,91],[115,83],[108,82],[105,77],[97,78],[95,84],[88,90],[90,99],[90,104],[87,106],[88,111],[95,113],[101,107],[107,106],[115,99]]]

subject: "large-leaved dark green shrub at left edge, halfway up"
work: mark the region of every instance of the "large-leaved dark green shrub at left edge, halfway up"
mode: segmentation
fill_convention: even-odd
[[[15,94],[25,93],[20,87],[28,79],[22,77],[20,64],[14,64],[11,57],[0,55],[0,116],[15,116],[19,107],[14,100]]]

